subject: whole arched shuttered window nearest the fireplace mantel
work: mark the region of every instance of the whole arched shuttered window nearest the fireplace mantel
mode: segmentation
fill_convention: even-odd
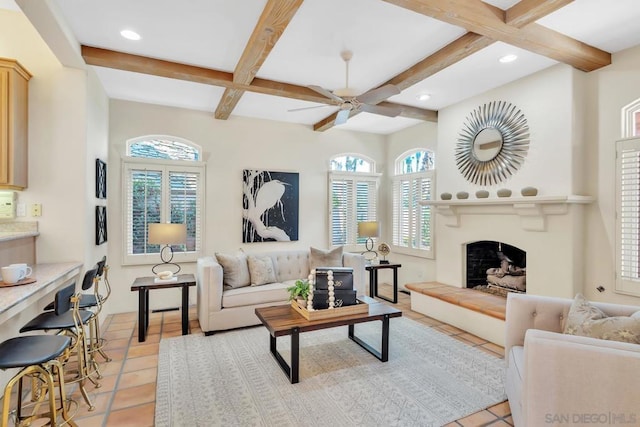
[[[394,250],[433,256],[433,212],[421,200],[431,199],[434,191],[435,158],[430,150],[414,149],[396,159],[393,177]]]

